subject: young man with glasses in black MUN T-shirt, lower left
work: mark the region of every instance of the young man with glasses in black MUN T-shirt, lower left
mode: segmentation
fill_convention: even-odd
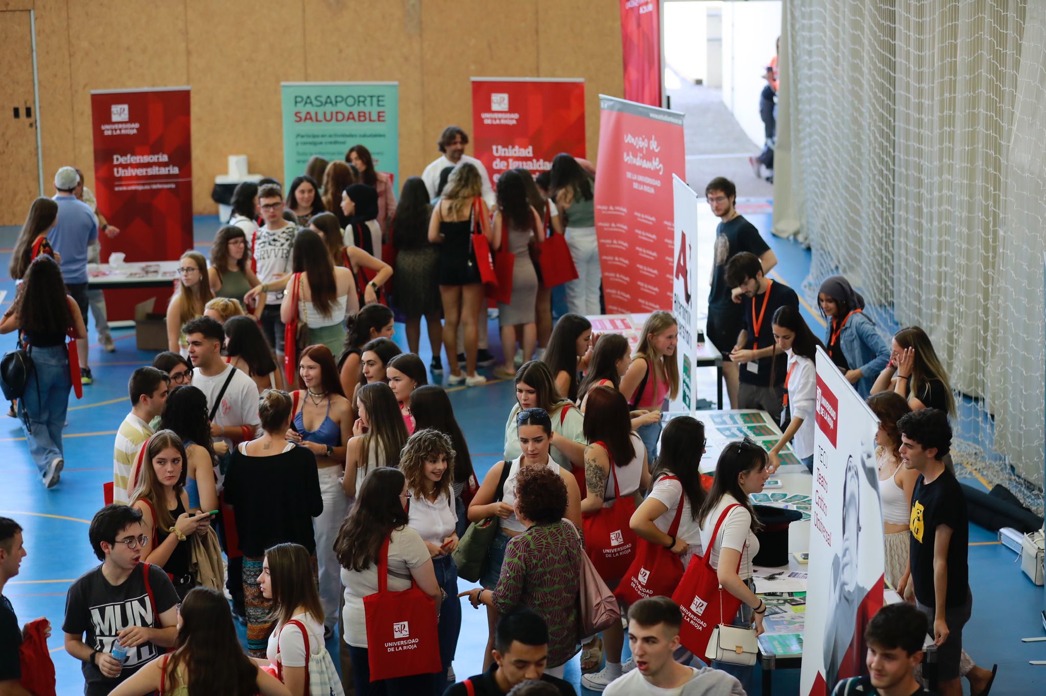
[[[139,561],[149,538],[135,508],[107,505],[88,536],[101,564],[69,587],[62,630],[66,652],[83,663],[85,696],[101,696],[175,644],[178,595],[159,566],[145,576]],[[116,641],[122,662],[112,654]]]

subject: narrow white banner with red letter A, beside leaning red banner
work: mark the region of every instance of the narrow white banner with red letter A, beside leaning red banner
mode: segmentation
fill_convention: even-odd
[[[698,240],[698,194],[686,182],[672,176],[673,207],[675,208],[675,247],[673,253],[672,314],[679,323],[679,394],[668,404],[669,411],[692,411],[693,398],[693,354],[698,345],[697,318],[695,306],[697,287],[693,271],[697,258],[693,250]]]

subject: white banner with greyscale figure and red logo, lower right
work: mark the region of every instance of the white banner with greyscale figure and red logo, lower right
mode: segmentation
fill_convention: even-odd
[[[879,419],[817,349],[813,524],[800,694],[867,674],[864,629],[883,606],[885,539],[876,467]]]

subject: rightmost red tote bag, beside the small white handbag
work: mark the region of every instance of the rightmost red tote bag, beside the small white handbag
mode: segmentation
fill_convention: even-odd
[[[723,520],[730,514],[730,510],[738,507],[734,503],[727,507],[715,523],[712,531],[712,540],[705,549],[705,555],[699,561],[697,558],[690,559],[690,564],[686,566],[686,573],[679,583],[679,587],[672,595],[672,601],[679,605],[683,612],[683,625],[679,629],[679,640],[687,650],[695,655],[704,655],[708,641],[712,631],[720,623],[732,624],[733,618],[741,608],[741,600],[730,593],[721,591],[719,576],[715,569],[711,566],[712,547],[715,537],[719,536],[720,527]],[[741,570],[741,559],[737,559],[737,570]]]

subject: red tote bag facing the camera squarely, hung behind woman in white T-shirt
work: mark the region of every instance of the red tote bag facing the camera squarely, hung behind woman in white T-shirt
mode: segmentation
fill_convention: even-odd
[[[434,674],[439,662],[436,604],[411,581],[410,589],[388,590],[389,540],[378,560],[378,591],[363,598],[370,681]]]

